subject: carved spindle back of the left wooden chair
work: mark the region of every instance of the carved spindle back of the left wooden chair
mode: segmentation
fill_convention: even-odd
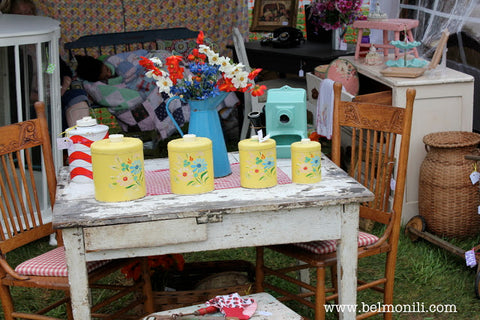
[[[45,105],[37,102],[35,110],[36,119],[0,128],[2,254],[53,232],[55,167]],[[48,190],[42,190],[43,179],[47,179]],[[41,203],[42,192],[48,192],[49,203]]]

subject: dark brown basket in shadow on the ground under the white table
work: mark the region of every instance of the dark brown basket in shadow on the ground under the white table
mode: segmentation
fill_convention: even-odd
[[[235,273],[239,275],[237,279],[232,278]],[[229,281],[221,281],[223,275]],[[234,292],[250,294],[253,292],[254,277],[255,267],[248,261],[186,263],[182,272],[169,276],[167,286],[176,291],[154,291],[155,309],[162,311],[191,306]]]

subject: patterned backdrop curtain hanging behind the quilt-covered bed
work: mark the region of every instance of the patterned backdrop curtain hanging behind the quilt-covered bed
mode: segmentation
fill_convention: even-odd
[[[61,22],[63,43],[98,33],[186,27],[203,30],[223,55],[231,44],[231,30],[248,30],[247,0],[42,0],[40,15]]]

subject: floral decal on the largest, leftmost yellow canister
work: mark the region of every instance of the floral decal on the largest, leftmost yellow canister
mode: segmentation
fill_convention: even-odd
[[[137,153],[127,158],[116,157],[112,169],[117,173],[112,176],[112,188],[135,190],[144,184],[143,158]]]

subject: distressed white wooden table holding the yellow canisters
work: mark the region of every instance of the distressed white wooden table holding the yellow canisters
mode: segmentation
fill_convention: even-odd
[[[239,162],[237,153],[230,163]],[[290,159],[278,168],[291,175]],[[145,161],[146,170],[168,159]],[[338,241],[339,303],[355,304],[359,203],[373,194],[322,157],[322,181],[268,189],[233,188],[201,195],[158,195],[101,203],[93,184],[58,177],[53,224],[62,229],[76,320],[90,319],[87,261],[255,247],[324,239]],[[341,319],[354,319],[345,311]]]

